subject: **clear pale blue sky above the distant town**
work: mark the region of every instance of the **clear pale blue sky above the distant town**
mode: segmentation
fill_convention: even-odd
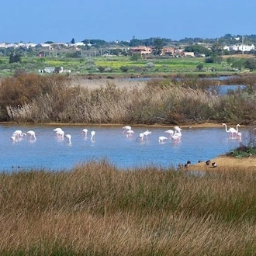
[[[254,0],[3,1],[0,42],[251,35],[256,34],[255,10]]]

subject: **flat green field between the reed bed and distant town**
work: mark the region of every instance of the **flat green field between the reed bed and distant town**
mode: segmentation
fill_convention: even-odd
[[[37,72],[45,67],[64,67],[72,74],[160,74],[160,73],[198,73],[197,66],[202,64],[200,73],[232,72],[226,61],[221,64],[206,63],[202,57],[152,57],[132,60],[131,57],[22,57],[21,63],[9,64],[9,57],[0,57],[0,77],[11,76],[17,69]],[[126,67],[121,71],[120,67]]]

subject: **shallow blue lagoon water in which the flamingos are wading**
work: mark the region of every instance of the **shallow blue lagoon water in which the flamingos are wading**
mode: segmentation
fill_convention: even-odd
[[[75,164],[90,160],[106,159],[118,168],[136,168],[153,164],[163,168],[178,167],[179,163],[192,164],[199,160],[206,161],[220,154],[225,154],[239,146],[240,141],[229,139],[229,133],[220,128],[182,127],[182,140],[175,144],[173,140],[158,142],[158,137],[168,137],[165,130],[173,126],[149,128],[152,133],[148,140],[137,141],[139,133],[145,127],[133,127],[133,137],[126,137],[122,127],[116,126],[63,126],[65,133],[71,134],[71,144],[67,138],[61,140],[54,133],[54,126],[0,126],[0,171],[19,169],[50,169],[52,171],[69,170]],[[81,131],[87,128],[88,137]],[[29,136],[12,142],[14,130],[34,130],[37,140]],[[95,141],[91,141],[90,132],[95,130]],[[245,140],[246,130],[240,130]]]

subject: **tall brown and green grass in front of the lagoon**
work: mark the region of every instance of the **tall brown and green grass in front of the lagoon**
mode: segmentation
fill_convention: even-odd
[[[254,255],[256,174],[89,161],[0,175],[1,255]]]

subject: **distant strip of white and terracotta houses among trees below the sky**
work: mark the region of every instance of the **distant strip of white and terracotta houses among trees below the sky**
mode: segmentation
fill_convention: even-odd
[[[13,51],[22,57],[96,57],[112,55],[150,54],[171,57],[206,57],[207,50],[218,47],[222,55],[254,54],[256,36],[232,36],[227,34],[217,39],[185,38],[173,41],[150,38],[138,40],[133,36],[130,41],[106,42],[104,40],[83,40],[69,43],[0,43],[0,56],[9,56]],[[197,47],[195,47],[197,46]],[[200,48],[199,48],[200,47]]]

